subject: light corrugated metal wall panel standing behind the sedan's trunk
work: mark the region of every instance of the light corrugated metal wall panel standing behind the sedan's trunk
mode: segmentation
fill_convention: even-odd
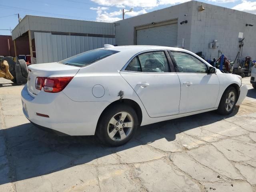
[[[115,44],[115,38],[52,35],[35,32],[36,63],[57,62],[76,54]]]

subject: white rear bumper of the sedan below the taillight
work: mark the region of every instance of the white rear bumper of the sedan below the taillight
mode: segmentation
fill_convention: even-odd
[[[109,102],[74,102],[63,92],[41,91],[34,98],[24,86],[23,113],[33,124],[68,135],[94,135],[98,118]],[[36,113],[49,117],[38,116]]]

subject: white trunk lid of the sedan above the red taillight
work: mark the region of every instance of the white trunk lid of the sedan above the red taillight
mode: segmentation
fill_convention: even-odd
[[[40,90],[36,89],[36,77],[70,77],[75,76],[80,67],[54,63],[33,64],[28,66],[28,93],[36,97]]]

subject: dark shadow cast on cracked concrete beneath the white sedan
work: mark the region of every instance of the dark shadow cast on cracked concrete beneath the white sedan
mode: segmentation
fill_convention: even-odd
[[[0,184],[90,163],[100,157],[162,138],[174,142],[176,134],[212,124],[234,116],[237,112],[238,107],[229,116],[220,116],[213,111],[142,126],[130,142],[119,147],[103,146],[94,136],[56,136],[39,130],[31,123],[0,130],[0,135],[4,134],[6,138],[5,154],[10,166],[8,178],[0,171]]]

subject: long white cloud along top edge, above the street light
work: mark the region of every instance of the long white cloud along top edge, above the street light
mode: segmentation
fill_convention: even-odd
[[[101,6],[115,6],[118,8],[127,7],[142,7],[152,8],[158,5],[173,5],[177,3],[184,3],[190,0],[91,0]]]

